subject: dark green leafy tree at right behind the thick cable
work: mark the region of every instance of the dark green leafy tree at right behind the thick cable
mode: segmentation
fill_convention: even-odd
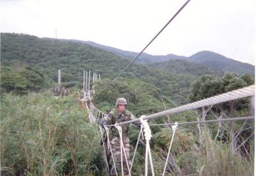
[[[196,81],[193,85],[193,90],[190,95],[191,101],[206,99],[208,97],[212,97],[214,95],[218,95],[225,92],[230,92],[232,90],[237,90],[239,88],[243,88],[246,86],[250,86],[253,84],[253,78],[244,74],[243,76],[238,76],[234,73],[226,73],[225,76],[218,78],[212,76],[203,76],[200,80]],[[207,112],[211,112],[211,115],[214,118],[234,118],[238,115],[246,115],[244,114],[243,109],[248,109],[248,99],[241,100],[231,100],[229,102],[223,102],[222,104],[217,104],[213,107],[202,108],[202,111],[198,113],[198,117],[201,117],[201,120],[205,120],[207,116]],[[247,113],[248,114],[248,113]],[[241,127],[241,126],[239,126]],[[238,127],[238,128],[239,128]],[[242,128],[244,125],[242,125]],[[198,126],[200,131],[200,126]],[[218,126],[218,131],[216,136],[220,135],[221,124]],[[241,131],[237,130],[237,126],[235,122],[231,122],[231,125],[228,129],[229,132],[229,141],[232,143],[232,150],[235,152],[237,150],[237,146],[239,143],[239,137],[241,136]],[[224,131],[223,131],[224,133]],[[240,136],[239,136],[239,135]],[[227,137],[226,137],[227,138]]]

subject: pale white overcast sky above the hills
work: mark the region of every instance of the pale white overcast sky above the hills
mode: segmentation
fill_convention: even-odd
[[[93,41],[140,52],[185,0],[1,0],[1,32]],[[255,65],[254,0],[191,0],[145,51],[213,51]]]

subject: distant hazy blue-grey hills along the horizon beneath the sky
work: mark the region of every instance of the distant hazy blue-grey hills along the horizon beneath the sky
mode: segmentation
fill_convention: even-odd
[[[89,44],[94,47],[99,47],[106,51],[115,52],[119,56],[122,56],[123,58],[127,58],[130,60],[134,59],[138,55],[138,52],[123,51],[121,49],[116,49],[114,47],[100,45],[95,42],[81,41],[81,40],[70,40],[70,41],[81,42],[83,44]],[[219,70],[222,72],[236,72],[238,74],[248,73],[248,74],[251,74],[252,76],[254,76],[254,73],[255,73],[255,66],[250,65],[248,63],[232,60],[231,58],[227,58],[225,56],[222,56],[221,54],[211,52],[211,51],[200,51],[189,57],[178,56],[175,54],[167,54],[166,56],[156,56],[156,55],[143,53],[141,54],[140,58],[138,58],[138,60],[136,61],[143,64],[151,64],[151,63],[156,63],[156,62],[158,63],[158,62],[164,62],[169,60],[193,61],[196,63],[201,63],[202,65],[209,67],[213,70]],[[159,64],[159,66],[160,65],[163,65],[163,64]]]

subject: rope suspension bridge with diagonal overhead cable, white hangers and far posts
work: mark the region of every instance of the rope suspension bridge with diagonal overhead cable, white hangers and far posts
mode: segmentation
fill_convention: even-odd
[[[145,49],[147,49],[148,45],[150,45],[156,38],[157,36],[164,30],[164,28],[166,28],[166,26],[168,26],[168,24],[170,24],[170,22],[172,22],[173,19],[175,19],[175,17],[182,11],[182,9],[189,3],[190,0],[186,1],[186,3],[183,4],[183,6],[175,13],[175,15],[173,15],[173,17],[168,20],[168,22],[164,25],[164,27],[157,33],[156,36],[154,36],[154,38],[152,38],[152,40],[150,40],[150,42],[142,49],[142,51],[134,58],[134,60],[132,60],[125,68],[124,70],[122,70],[122,72],[120,72],[120,74],[118,74],[118,76],[116,76],[112,81],[110,81],[108,84],[106,84],[105,88],[102,88],[102,90],[99,90],[99,92],[102,92],[103,90],[105,90],[106,88],[109,87],[110,84],[113,84],[114,82],[117,81],[118,77],[122,76],[122,74],[127,70],[127,68],[130,67],[130,65],[132,63],[134,63],[134,61],[136,61],[138,59],[138,57],[141,55],[141,53],[143,51],[145,51]],[[60,80],[60,79],[59,79]],[[93,73],[93,83],[95,81],[100,81],[100,74],[95,74]],[[59,83],[60,85],[60,83]],[[88,116],[90,119],[90,122],[92,123],[97,123],[99,122],[102,118],[104,118],[105,116],[107,116],[105,113],[103,113],[102,111],[100,111],[100,109],[96,108],[96,106],[93,104],[92,102],[92,95],[94,94],[94,88],[90,86],[90,71],[85,71],[84,70],[84,79],[83,79],[83,102],[85,102],[86,108],[88,109]],[[163,116],[168,116],[168,115],[173,115],[176,113],[182,113],[184,111],[189,111],[189,110],[195,110],[198,108],[205,108],[205,107],[212,107],[213,105],[216,104],[221,104],[223,102],[229,102],[232,100],[237,100],[237,99],[243,99],[246,97],[250,97],[251,98],[251,109],[252,109],[252,116],[243,116],[243,117],[236,117],[236,118],[220,118],[220,119],[216,119],[216,120],[202,120],[202,121],[195,121],[195,122],[174,122],[174,123],[170,123],[170,124],[148,124],[148,121],[152,120],[152,119],[157,119],[157,118],[162,118]],[[189,104],[184,104],[182,106],[178,106],[176,108],[171,108],[171,109],[166,109],[165,111],[161,111],[159,113],[154,113],[151,115],[142,115],[140,116],[140,118],[134,119],[134,120],[129,120],[126,122],[122,122],[120,124],[111,124],[111,125],[106,125],[104,127],[104,130],[106,131],[106,135],[108,137],[107,139],[107,143],[108,143],[108,147],[109,150],[111,150],[111,154],[113,157],[113,152],[111,149],[111,145],[109,142],[109,129],[112,127],[115,127],[119,133],[119,138],[120,138],[120,151],[121,151],[121,161],[126,161],[127,166],[129,166],[129,164],[127,163],[127,159],[125,156],[125,152],[124,152],[124,145],[122,142],[122,125],[125,124],[131,124],[134,122],[141,122],[141,129],[140,129],[140,134],[138,135],[138,141],[136,143],[136,147],[135,147],[135,151],[134,151],[134,156],[132,158],[132,163],[134,161],[134,157],[136,154],[136,149],[138,147],[138,142],[140,140],[140,136],[145,136],[145,141],[146,141],[146,148],[145,148],[145,175],[148,175],[148,164],[150,165],[150,172],[152,175],[155,175],[154,173],[154,161],[152,160],[152,154],[151,154],[151,150],[150,150],[150,139],[152,137],[152,131],[150,129],[150,127],[152,126],[164,126],[164,125],[168,125],[172,127],[172,139],[170,141],[170,146],[168,148],[168,154],[167,154],[167,158],[166,158],[166,162],[164,164],[164,168],[163,168],[163,173],[162,175],[166,174],[166,168],[168,165],[168,157],[170,156],[170,152],[172,150],[172,145],[173,145],[173,138],[175,138],[175,132],[177,130],[177,128],[182,127],[182,125],[192,125],[192,124],[206,124],[206,123],[218,123],[220,124],[221,122],[235,122],[235,121],[241,121],[241,120],[254,120],[254,97],[255,97],[255,86],[248,86],[245,88],[240,88],[238,90],[234,90],[232,92],[227,92],[227,93],[222,93],[220,95],[216,95],[214,97],[209,97],[207,99],[202,99],[202,100],[198,100],[196,102],[191,102]],[[206,115],[206,114],[205,114]],[[248,128],[250,129],[250,128]],[[245,129],[244,129],[245,130]],[[102,132],[102,128],[99,127],[99,133],[100,136],[102,138],[102,142],[104,143],[103,140],[103,132]],[[252,137],[249,136],[249,138]],[[248,139],[247,139],[248,140]],[[243,143],[241,144],[243,145]],[[104,147],[104,145],[103,145]],[[106,148],[104,148],[105,151]],[[122,153],[124,152],[124,156],[122,156]],[[105,152],[104,152],[105,153]],[[125,157],[125,159],[123,158]],[[114,157],[113,157],[114,160]],[[108,165],[108,161],[106,159],[106,163]],[[131,175],[131,171],[132,171],[132,163],[131,166],[129,168],[129,175]],[[123,162],[121,162],[122,164],[122,175],[124,175],[124,171],[123,171]],[[115,161],[114,161],[114,165],[115,165]],[[115,173],[116,175],[116,168],[115,168]]]

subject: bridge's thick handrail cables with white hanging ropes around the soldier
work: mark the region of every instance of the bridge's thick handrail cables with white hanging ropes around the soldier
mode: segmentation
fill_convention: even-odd
[[[122,146],[122,128],[121,128],[121,126],[124,125],[124,124],[131,124],[131,123],[140,121],[142,123],[142,125],[141,125],[140,134],[138,136],[138,141],[140,140],[140,135],[143,134],[143,132],[144,132],[144,136],[145,136],[145,140],[146,140],[145,175],[147,175],[147,173],[148,173],[148,160],[149,160],[149,163],[150,163],[151,173],[152,173],[152,175],[154,175],[154,166],[153,166],[153,163],[152,163],[152,156],[151,156],[150,145],[149,145],[149,141],[150,141],[150,138],[152,136],[151,131],[150,131],[150,126],[172,125],[173,135],[172,135],[172,141],[170,143],[170,147],[169,147],[169,150],[168,150],[168,156],[167,156],[167,159],[166,159],[166,163],[164,165],[164,170],[163,170],[163,175],[164,175],[165,172],[166,172],[168,157],[170,156],[170,150],[172,148],[172,143],[173,143],[173,138],[174,138],[174,135],[175,135],[175,131],[176,131],[176,129],[179,125],[202,124],[202,123],[212,123],[212,122],[227,122],[227,121],[237,121],[237,120],[253,120],[254,116],[237,117],[237,118],[224,118],[224,119],[218,119],[218,120],[205,120],[205,121],[202,121],[202,122],[183,122],[183,123],[175,122],[175,123],[172,123],[172,124],[150,124],[150,125],[148,125],[147,120],[151,120],[153,118],[159,118],[161,116],[172,115],[172,114],[175,114],[175,113],[180,113],[180,112],[188,111],[188,110],[192,110],[192,109],[203,108],[205,106],[210,106],[210,105],[214,105],[214,104],[220,104],[221,102],[228,102],[230,100],[236,100],[236,99],[242,99],[242,98],[245,98],[245,97],[254,97],[254,96],[255,96],[255,86],[252,85],[252,86],[248,86],[248,87],[241,88],[241,89],[238,89],[238,90],[234,90],[232,92],[222,93],[222,94],[216,95],[214,97],[210,97],[210,98],[207,98],[207,99],[203,99],[203,100],[199,100],[199,101],[192,102],[192,103],[189,103],[189,104],[185,104],[185,105],[179,106],[177,108],[167,109],[166,111],[161,111],[159,113],[154,113],[152,115],[147,115],[147,116],[143,115],[140,118],[137,118],[135,120],[122,122],[120,124],[106,125],[105,130],[106,130],[106,134],[108,136],[109,127],[116,127],[116,129],[118,129],[118,132],[120,134],[120,143],[121,143],[120,144],[120,150],[122,151],[122,150],[124,150],[124,146]],[[95,122],[97,122],[97,120],[100,120],[100,118],[103,118],[104,116],[106,116],[106,114],[102,113],[102,111],[97,109],[92,104],[92,102],[90,102],[90,113],[89,113],[90,122],[95,123]],[[102,129],[101,129],[101,127],[100,127],[100,134],[101,134],[101,138],[102,138]],[[103,141],[103,139],[102,139],[102,141]],[[138,147],[138,141],[136,143],[134,156],[136,154],[136,149]],[[110,146],[110,143],[109,143],[109,138],[108,138],[108,147],[111,150],[111,146]],[[112,154],[112,150],[111,150],[111,154]],[[122,152],[121,152],[121,154],[122,154]],[[124,154],[125,154],[125,152],[124,152]],[[134,161],[134,156],[132,158],[132,163]],[[112,154],[112,157],[113,157],[113,154]],[[121,158],[121,161],[122,161],[122,159],[123,158]],[[126,159],[126,164],[127,164],[127,159]],[[114,166],[115,166],[115,162],[114,162]],[[132,169],[132,164],[131,164],[131,168],[129,168],[129,175],[131,175],[131,169]],[[116,168],[115,168],[115,171],[116,171]],[[122,166],[122,171],[123,171],[123,166]],[[116,175],[117,175],[117,173],[116,173]],[[122,172],[122,175],[124,175],[124,172]]]

